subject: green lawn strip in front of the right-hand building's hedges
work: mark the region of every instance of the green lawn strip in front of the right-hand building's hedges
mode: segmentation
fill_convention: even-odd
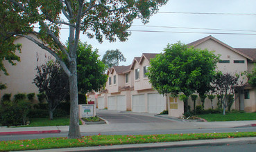
[[[256,120],[256,113],[226,113],[225,115],[221,113],[217,113],[217,114],[196,115],[196,117],[201,117],[207,120],[208,122]]]

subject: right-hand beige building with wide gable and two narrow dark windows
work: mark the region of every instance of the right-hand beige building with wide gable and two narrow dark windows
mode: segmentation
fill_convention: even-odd
[[[255,48],[232,48],[212,36],[204,37],[187,45],[200,49],[207,48],[207,50],[214,51],[216,55],[221,55],[220,61],[217,63],[217,69],[223,73],[239,74],[244,71],[250,72],[255,64]],[[256,111],[255,88],[246,86],[244,91],[236,93],[235,99],[232,108],[248,112]],[[197,104],[200,105],[199,98]],[[189,105],[193,107],[191,100]],[[216,107],[215,99],[214,108]],[[211,108],[210,99],[205,100],[205,109],[207,108]]]

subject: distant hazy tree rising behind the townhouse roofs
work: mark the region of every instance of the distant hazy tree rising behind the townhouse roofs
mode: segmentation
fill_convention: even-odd
[[[102,61],[108,68],[111,68],[112,66],[118,66],[119,61],[126,61],[126,58],[123,57],[123,53],[118,49],[107,50],[105,55],[103,55]]]

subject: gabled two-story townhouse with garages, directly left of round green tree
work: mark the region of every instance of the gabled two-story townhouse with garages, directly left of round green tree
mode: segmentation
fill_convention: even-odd
[[[130,70],[134,71],[134,91],[132,91],[132,111],[140,113],[160,113],[167,109],[167,97],[160,95],[149,83],[146,75],[150,59],[155,53],[143,53],[142,57],[135,58]]]

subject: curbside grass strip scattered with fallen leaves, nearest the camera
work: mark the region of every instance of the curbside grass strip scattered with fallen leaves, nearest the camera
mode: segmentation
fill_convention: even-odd
[[[0,142],[0,151],[24,151],[60,149],[81,146],[108,146],[117,144],[143,144],[153,142],[177,142],[183,140],[210,140],[234,137],[255,137],[256,132],[238,133],[188,133],[163,135],[91,135],[81,139],[51,137],[36,140],[13,140]]]

